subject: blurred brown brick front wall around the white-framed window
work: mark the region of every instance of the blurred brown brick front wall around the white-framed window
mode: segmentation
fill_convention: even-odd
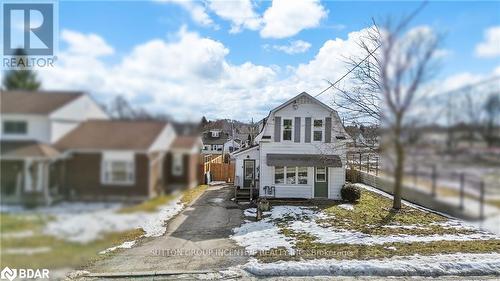
[[[72,199],[113,200],[140,199],[149,196],[149,159],[135,154],[135,183],[132,185],[103,185],[101,183],[102,154],[73,153],[66,160],[65,186]]]

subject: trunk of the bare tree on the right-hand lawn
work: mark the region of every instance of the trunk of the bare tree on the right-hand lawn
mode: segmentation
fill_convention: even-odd
[[[401,209],[401,193],[403,189],[403,175],[404,175],[404,147],[402,144],[401,136],[401,117],[396,117],[395,134],[395,150],[396,150],[396,167],[394,171],[394,201],[392,208],[395,210]]]

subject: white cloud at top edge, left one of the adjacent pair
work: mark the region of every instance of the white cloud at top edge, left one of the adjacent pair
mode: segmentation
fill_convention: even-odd
[[[261,26],[262,20],[255,13],[251,0],[211,0],[209,7],[222,19],[231,21],[230,33],[240,32],[242,28],[258,30]]]

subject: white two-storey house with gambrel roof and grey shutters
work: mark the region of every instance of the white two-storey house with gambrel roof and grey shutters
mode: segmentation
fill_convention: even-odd
[[[232,154],[237,186],[261,197],[340,198],[350,138],[335,110],[303,92],[259,123],[254,145]]]

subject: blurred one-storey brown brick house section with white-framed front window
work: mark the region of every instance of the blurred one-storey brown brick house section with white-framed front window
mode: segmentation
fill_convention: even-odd
[[[70,198],[154,197],[166,188],[165,155],[175,140],[160,121],[90,120],[55,144],[65,151],[63,185]]]

